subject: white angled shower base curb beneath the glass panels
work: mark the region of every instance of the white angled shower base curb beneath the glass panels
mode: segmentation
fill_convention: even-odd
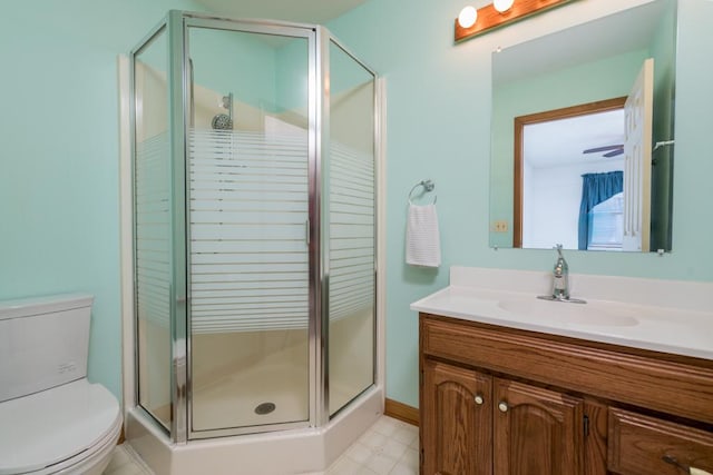
[[[322,427],[173,444],[139,408],[126,417],[126,439],[157,475],[289,475],[326,469],[383,414],[374,386]],[[280,456],[275,456],[280,454]]]

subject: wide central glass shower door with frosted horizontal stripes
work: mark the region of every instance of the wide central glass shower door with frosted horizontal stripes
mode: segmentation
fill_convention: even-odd
[[[193,432],[306,422],[307,39],[188,38]]]

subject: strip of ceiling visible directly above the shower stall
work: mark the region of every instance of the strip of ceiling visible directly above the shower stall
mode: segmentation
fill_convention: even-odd
[[[263,18],[325,23],[367,0],[196,0],[211,12],[231,18]]]

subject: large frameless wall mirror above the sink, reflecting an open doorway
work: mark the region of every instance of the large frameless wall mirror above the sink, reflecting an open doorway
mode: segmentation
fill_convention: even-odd
[[[546,117],[557,110],[625,100],[644,61],[653,58],[652,144],[646,145],[653,150],[655,142],[673,140],[675,17],[675,0],[655,0],[494,53],[490,222],[506,221],[509,226],[506,232],[496,232],[495,227],[490,227],[491,246],[551,248],[555,243],[563,243],[569,249],[622,250],[611,239],[598,240],[598,234],[595,244],[590,244],[592,237],[583,235],[580,229],[580,208],[582,175],[623,169],[623,160],[617,165],[611,160],[594,168],[593,165],[597,161],[595,158],[611,158],[604,155],[624,155],[623,148],[622,154],[617,154],[624,144],[624,130],[614,137],[611,132],[597,133],[593,128],[593,133],[584,137],[572,129],[554,128],[544,136],[554,150],[549,160],[555,162],[561,159],[555,155],[570,150],[569,165],[550,164],[548,169],[538,166],[535,170],[525,159],[526,132],[525,129],[518,131],[522,123],[517,122],[522,118]],[[593,151],[585,154],[585,150]],[[670,250],[673,147],[649,151],[647,161],[653,164],[651,178],[646,180],[651,181],[651,190],[646,191],[651,228],[646,227],[643,234],[642,249]],[[545,181],[522,181],[528,175],[524,170],[528,169],[530,176],[537,175],[534,170],[538,171]],[[573,171],[575,169],[577,171]],[[556,221],[554,217],[561,219]],[[598,222],[597,218],[587,219]],[[625,246],[625,250],[632,250],[631,245]]]

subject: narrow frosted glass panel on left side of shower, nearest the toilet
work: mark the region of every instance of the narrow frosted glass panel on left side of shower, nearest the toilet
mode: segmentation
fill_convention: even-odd
[[[170,427],[172,188],[165,30],[136,53],[135,281],[139,404]]]

